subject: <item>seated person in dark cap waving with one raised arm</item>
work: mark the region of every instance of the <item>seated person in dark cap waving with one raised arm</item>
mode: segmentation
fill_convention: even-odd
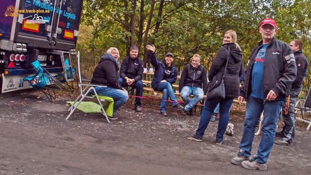
[[[177,80],[177,69],[173,64],[173,53],[167,53],[165,56],[165,60],[159,62],[156,59],[155,55],[155,46],[147,45],[148,50],[151,50],[150,54],[150,62],[155,67],[155,75],[151,82],[151,86],[155,91],[163,92],[162,101],[160,104],[160,113],[162,116],[167,116],[166,108],[169,97],[171,98],[172,106],[177,110],[182,110],[182,107],[178,102],[177,98],[174,95],[172,84]]]

